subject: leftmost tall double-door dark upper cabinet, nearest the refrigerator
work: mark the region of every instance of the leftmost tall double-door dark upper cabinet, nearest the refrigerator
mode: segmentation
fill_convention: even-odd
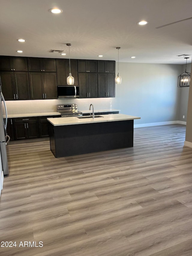
[[[0,71],[0,83],[6,101],[30,100],[28,72]]]

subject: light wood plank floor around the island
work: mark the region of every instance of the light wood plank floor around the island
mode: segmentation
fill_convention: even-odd
[[[191,256],[192,148],[184,125],[134,130],[134,147],[55,158],[8,145],[1,256]],[[78,145],[77,145],[78,146]],[[43,247],[19,247],[19,242]]]

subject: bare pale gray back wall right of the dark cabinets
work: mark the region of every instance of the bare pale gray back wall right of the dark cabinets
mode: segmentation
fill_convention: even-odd
[[[177,83],[181,73],[182,65],[120,62],[122,83],[116,85],[112,106],[121,113],[140,116],[134,124],[176,121],[180,106]]]

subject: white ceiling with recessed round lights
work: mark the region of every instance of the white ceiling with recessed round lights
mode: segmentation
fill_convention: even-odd
[[[119,62],[184,64],[181,54],[191,62],[192,19],[157,29],[192,17],[191,0],[0,0],[0,6],[0,55],[68,58],[71,43],[71,59],[117,61],[121,47]],[[55,7],[63,13],[49,12]]]

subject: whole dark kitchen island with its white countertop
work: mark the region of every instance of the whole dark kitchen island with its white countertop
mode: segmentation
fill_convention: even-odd
[[[109,114],[94,119],[48,118],[50,149],[57,158],[133,147],[134,119],[140,117]]]

